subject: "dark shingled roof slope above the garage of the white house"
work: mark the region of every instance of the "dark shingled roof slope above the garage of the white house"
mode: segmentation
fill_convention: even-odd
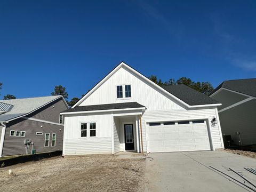
[[[186,85],[168,85],[163,86],[166,91],[169,91],[182,101],[188,103],[190,106],[197,105],[210,105],[220,103],[215,99],[208,97],[207,95],[198,92]]]

